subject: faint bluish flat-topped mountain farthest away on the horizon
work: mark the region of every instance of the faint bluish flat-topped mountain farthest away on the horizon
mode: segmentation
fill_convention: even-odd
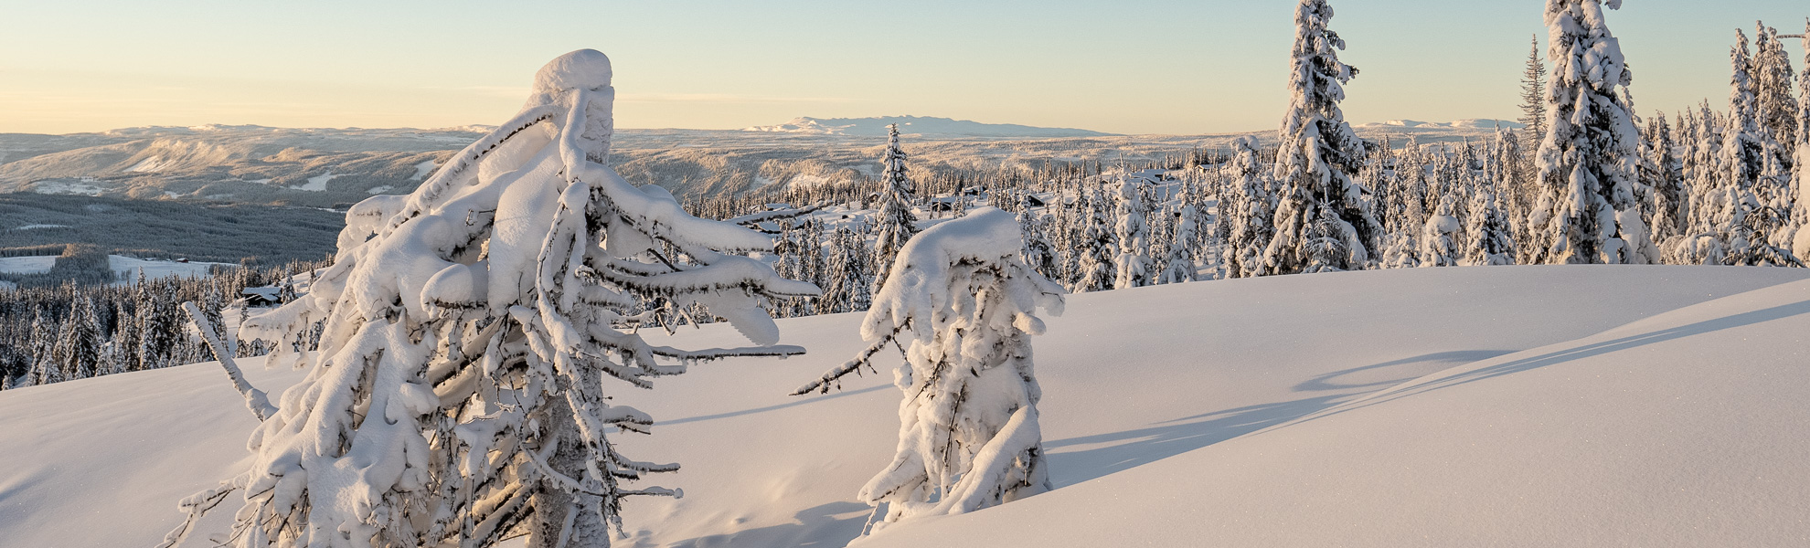
[[[934,116],[878,116],[878,118],[796,118],[782,125],[760,125],[744,132],[782,132],[816,136],[885,136],[887,125],[900,125],[900,134],[927,137],[1102,137],[1095,130],[1048,128],[1015,123],[979,123]]]

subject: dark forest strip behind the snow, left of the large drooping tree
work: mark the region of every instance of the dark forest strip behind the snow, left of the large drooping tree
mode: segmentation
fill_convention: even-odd
[[[194,336],[183,302],[195,302],[239,356],[270,349],[239,342],[233,326],[246,313],[246,288],[291,288],[293,273],[324,262],[272,268],[226,268],[210,277],[139,275],[130,284],[5,291],[0,298],[0,389],[54,383],[112,373],[161,369],[214,360]]]

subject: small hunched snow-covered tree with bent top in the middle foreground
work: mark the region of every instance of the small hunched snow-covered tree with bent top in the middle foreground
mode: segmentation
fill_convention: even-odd
[[[885,515],[963,514],[1050,490],[1032,371],[1037,309],[1062,313],[1062,288],[1019,259],[1012,213],[977,208],[914,237],[862,322],[854,360],[793,394],[827,392],[894,340],[900,445],[860,497]]]

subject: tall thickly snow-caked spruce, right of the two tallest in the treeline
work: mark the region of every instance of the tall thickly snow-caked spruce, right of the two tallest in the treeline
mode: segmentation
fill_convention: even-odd
[[[1625,262],[1625,235],[1645,233],[1634,210],[1640,134],[1620,89],[1633,81],[1602,9],[1622,0],[1546,0],[1551,80],[1533,212],[1533,262]]]

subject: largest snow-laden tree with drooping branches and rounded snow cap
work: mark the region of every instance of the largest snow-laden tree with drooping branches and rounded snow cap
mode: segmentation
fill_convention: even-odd
[[[606,389],[802,353],[773,345],[758,304],[816,288],[735,255],[771,239],[691,217],[606,165],[610,72],[590,49],[552,60],[519,114],[413,194],[348,212],[311,291],[241,329],[293,340],[326,322],[319,353],[299,356],[308,376],[252,434],[250,467],[183,501],[192,517],[244,490],[246,548],[606,546],[623,497],[677,494],[624,487],[677,465],[615,450],[605,430],[652,418]],[[657,347],[614,327],[655,297],[702,304],[764,347]]]

